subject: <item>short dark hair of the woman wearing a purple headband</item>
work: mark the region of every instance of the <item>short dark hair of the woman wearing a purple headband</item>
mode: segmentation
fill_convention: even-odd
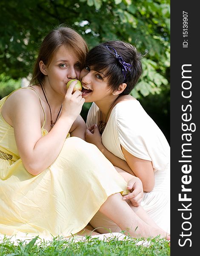
[[[123,58],[123,61],[131,64],[131,71],[127,70],[125,80],[120,62],[117,60],[114,52],[112,52],[110,48],[108,49],[106,45],[114,48],[117,54]],[[95,46],[88,52],[86,65],[89,65],[97,72],[103,70],[105,74],[104,78],[108,78],[108,86],[112,91],[117,90],[120,84],[126,83],[126,89],[121,95],[127,95],[137,84],[142,74],[142,57],[142,54],[137,52],[137,49],[129,43],[123,41],[108,41]]]

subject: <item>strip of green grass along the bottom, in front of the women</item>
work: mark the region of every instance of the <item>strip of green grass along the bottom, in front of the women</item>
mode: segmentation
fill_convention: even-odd
[[[137,245],[140,242],[143,244]],[[17,240],[13,242],[4,238],[0,241],[0,256],[170,256],[169,242],[165,239],[148,239],[146,246],[143,239],[116,238],[100,241],[86,237],[86,241],[67,241],[54,238],[52,241],[42,241],[38,237],[29,242]]]

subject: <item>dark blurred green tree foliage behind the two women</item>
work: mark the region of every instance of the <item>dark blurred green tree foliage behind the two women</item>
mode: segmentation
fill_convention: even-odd
[[[131,95],[169,141],[170,0],[1,0],[0,17],[0,98],[31,76],[41,41],[64,23],[85,38],[89,49],[123,40],[146,54],[143,76]],[[81,112],[85,120],[90,105]]]

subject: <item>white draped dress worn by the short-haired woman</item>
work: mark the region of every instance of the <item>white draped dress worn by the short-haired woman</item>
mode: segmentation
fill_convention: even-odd
[[[97,124],[98,113],[99,108],[93,102],[87,127]],[[155,185],[151,192],[144,192],[141,205],[157,225],[170,233],[170,147],[140,102],[126,100],[114,106],[102,134],[102,143],[122,160],[126,159],[120,145],[135,157],[152,161]],[[94,222],[91,224],[96,226]],[[98,224],[105,225],[104,222]]]

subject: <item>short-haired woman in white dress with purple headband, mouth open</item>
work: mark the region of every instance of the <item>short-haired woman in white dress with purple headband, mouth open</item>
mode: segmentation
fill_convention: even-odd
[[[129,95],[142,73],[140,59],[136,48],[122,41],[109,41],[89,51],[80,75],[82,96],[93,102],[86,140],[114,166],[140,178],[144,190],[141,206],[159,227],[170,232],[170,147],[140,102]],[[119,230],[99,212],[90,223]]]

